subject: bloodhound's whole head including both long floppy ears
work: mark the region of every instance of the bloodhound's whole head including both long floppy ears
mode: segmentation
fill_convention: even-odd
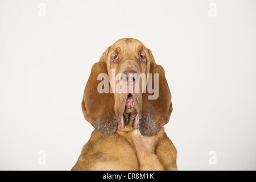
[[[105,86],[111,91],[107,93],[98,92],[101,73],[108,75]],[[148,93],[148,81],[158,89],[155,99],[149,99],[152,93]],[[85,119],[104,134],[114,133],[117,127],[122,130],[128,123],[144,136],[158,133],[170,118],[171,93],[164,70],[156,65],[150,49],[137,39],[120,39],[108,47],[93,65],[82,111]]]

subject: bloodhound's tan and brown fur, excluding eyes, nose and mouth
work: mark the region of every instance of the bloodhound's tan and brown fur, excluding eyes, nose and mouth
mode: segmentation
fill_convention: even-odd
[[[146,63],[137,58],[142,51],[146,54]],[[113,52],[120,55],[115,64],[109,62]],[[135,69],[138,73],[159,73],[158,99],[148,100],[148,93],[138,96],[139,129],[133,129],[131,123],[119,129],[120,96],[97,92],[98,74],[109,75],[110,68],[117,72]],[[171,93],[164,69],[155,63],[151,51],[139,40],[118,40],[93,65],[85,86],[82,112],[96,130],[72,170],[176,170],[177,151],[163,129],[171,111]]]

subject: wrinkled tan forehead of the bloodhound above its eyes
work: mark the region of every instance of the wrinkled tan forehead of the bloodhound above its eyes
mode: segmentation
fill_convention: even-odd
[[[139,53],[146,47],[137,39],[120,39],[112,45],[111,49],[117,53]]]

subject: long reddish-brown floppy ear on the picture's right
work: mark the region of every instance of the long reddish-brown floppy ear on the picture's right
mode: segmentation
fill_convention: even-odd
[[[143,136],[150,136],[157,134],[160,129],[168,123],[172,112],[171,92],[164,76],[164,69],[155,63],[154,57],[150,52],[150,73],[152,75],[152,88],[157,92],[158,98],[152,97],[153,94],[143,94],[143,113],[142,118],[139,119],[139,131]],[[158,80],[155,80],[158,74]],[[159,84],[154,84],[158,81]],[[158,86],[158,88],[157,88]],[[151,96],[151,97],[148,97]]]

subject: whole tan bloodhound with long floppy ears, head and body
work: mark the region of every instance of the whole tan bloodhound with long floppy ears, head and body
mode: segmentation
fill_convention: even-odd
[[[164,69],[150,49],[119,39],[93,65],[85,86],[82,113],[95,130],[72,170],[176,170],[177,151],[163,128],[171,112]]]

